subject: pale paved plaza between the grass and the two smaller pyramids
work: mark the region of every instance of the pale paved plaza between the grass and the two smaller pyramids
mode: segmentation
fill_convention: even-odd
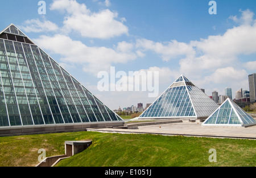
[[[138,126],[138,129],[88,129],[104,133],[138,133],[184,136],[207,136],[217,138],[256,139],[256,126],[250,127],[206,127],[201,122],[166,123],[160,125]]]

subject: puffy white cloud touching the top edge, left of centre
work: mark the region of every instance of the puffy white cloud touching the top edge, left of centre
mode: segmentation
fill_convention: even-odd
[[[110,5],[109,1],[105,2]],[[80,4],[74,0],[55,0],[51,10],[66,11],[68,14],[64,19],[64,30],[74,30],[81,36],[88,38],[108,39],[114,36],[128,34],[128,27],[118,21],[118,13],[113,13],[109,9],[99,12],[91,12],[85,4]]]

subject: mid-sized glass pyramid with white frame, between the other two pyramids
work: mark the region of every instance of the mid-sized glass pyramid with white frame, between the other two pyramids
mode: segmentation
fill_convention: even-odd
[[[181,75],[139,118],[207,118],[218,105]]]

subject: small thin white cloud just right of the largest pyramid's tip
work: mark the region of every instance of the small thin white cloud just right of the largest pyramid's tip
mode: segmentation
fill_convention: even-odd
[[[22,30],[25,32],[47,32],[56,31],[59,29],[55,23],[52,23],[46,19],[44,19],[43,22],[39,19],[26,20],[23,24],[24,25],[20,28],[22,28]]]

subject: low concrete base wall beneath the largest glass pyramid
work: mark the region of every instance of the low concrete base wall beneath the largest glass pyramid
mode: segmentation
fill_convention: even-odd
[[[116,122],[113,121],[113,122],[76,123],[76,124],[60,124],[60,125],[2,127],[0,129],[0,136],[86,131],[86,129],[88,128],[123,126],[124,123],[125,123],[124,121],[116,121]]]

